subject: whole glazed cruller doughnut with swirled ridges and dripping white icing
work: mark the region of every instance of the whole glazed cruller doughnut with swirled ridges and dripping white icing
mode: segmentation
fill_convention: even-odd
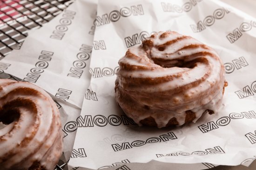
[[[217,53],[175,31],[158,32],[119,60],[115,98],[139,125],[180,126],[216,113],[227,86]]]

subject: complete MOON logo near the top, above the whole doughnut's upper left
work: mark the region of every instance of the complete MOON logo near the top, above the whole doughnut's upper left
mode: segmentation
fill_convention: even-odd
[[[130,7],[122,7],[119,11],[114,10],[110,13],[105,13],[102,16],[96,16],[96,19],[94,20],[94,25],[101,26],[105,24],[109,24],[111,22],[118,21],[121,16],[122,17],[129,17],[131,15],[137,16],[137,15],[144,15],[142,5],[137,6],[130,6]]]

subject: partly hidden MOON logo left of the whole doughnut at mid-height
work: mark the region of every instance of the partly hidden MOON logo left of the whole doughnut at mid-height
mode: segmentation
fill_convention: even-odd
[[[116,67],[115,69],[111,69],[109,67],[95,67],[94,69],[90,68],[89,72],[91,73],[93,78],[99,78],[103,76],[114,76],[117,72],[117,69],[119,69],[119,67]]]

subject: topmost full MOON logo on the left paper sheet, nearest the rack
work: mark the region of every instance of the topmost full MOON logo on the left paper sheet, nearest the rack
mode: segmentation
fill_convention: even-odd
[[[59,20],[60,25],[55,27],[50,38],[61,40],[65,32],[68,30],[67,26],[72,24],[72,19],[74,19],[75,12],[65,9],[62,18]]]

